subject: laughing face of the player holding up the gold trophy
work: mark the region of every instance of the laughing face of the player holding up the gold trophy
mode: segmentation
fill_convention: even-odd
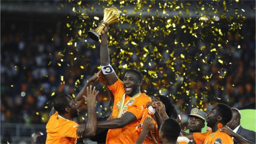
[[[123,87],[128,96],[133,96],[140,88],[140,81],[135,74],[127,72],[123,79]]]

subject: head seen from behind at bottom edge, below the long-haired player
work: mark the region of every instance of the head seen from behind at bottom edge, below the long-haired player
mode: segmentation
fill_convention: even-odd
[[[181,133],[181,125],[173,118],[166,119],[159,129],[159,140],[163,143],[173,143],[177,141]]]

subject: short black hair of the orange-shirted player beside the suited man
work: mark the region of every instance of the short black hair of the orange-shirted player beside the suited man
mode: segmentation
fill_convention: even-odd
[[[216,105],[217,114],[219,114],[222,117],[223,124],[226,125],[229,121],[231,121],[233,113],[231,108],[224,104],[219,103]]]

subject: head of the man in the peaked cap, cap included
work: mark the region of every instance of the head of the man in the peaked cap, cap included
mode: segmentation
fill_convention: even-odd
[[[201,133],[202,128],[205,126],[204,122],[207,118],[207,114],[197,107],[192,108],[190,114],[187,115],[187,126],[190,133]]]

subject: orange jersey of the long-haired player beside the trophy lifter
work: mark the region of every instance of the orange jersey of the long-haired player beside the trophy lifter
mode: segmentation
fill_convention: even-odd
[[[141,126],[141,124],[144,122],[146,117],[151,117],[151,115],[149,114],[148,111],[149,111],[149,109],[145,108],[142,119],[139,122],[139,125],[135,129],[135,133],[138,135],[140,135],[140,133],[142,131],[143,126]],[[158,126],[157,126],[157,123],[155,122],[155,120],[153,120],[153,123],[154,123],[154,128],[152,130],[150,130],[149,133],[146,135],[146,138],[144,139],[144,142],[143,142],[144,144],[155,144],[155,143],[160,144],[159,135],[158,135],[158,132],[159,132]]]

